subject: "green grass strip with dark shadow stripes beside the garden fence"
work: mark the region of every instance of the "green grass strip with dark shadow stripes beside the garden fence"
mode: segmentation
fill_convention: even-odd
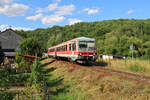
[[[61,93],[65,93],[67,91],[67,88],[66,88],[66,86],[63,85],[63,82],[62,82],[64,78],[55,77],[51,74],[51,72],[55,71],[56,68],[55,67],[50,67],[50,68],[47,67],[47,65],[52,64],[53,62],[55,62],[55,60],[52,60],[45,64],[42,64],[41,71],[44,74],[44,80],[45,80],[46,86],[48,87],[48,91],[52,95],[57,96]]]

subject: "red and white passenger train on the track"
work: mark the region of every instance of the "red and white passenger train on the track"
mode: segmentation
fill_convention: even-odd
[[[97,59],[96,41],[93,38],[78,37],[48,48],[48,56],[94,62]]]

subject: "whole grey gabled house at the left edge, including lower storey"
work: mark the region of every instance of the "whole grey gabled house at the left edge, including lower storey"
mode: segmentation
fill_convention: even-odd
[[[6,29],[5,31],[0,32],[1,47],[5,57],[14,58],[16,55],[15,51],[18,49],[22,40],[23,37],[12,29]]]

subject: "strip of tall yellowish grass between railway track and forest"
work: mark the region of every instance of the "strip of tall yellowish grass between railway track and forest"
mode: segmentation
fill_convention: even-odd
[[[105,63],[108,63],[105,67],[110,67],[113,69],[150,74],[150,63],[146,60],[110,60],[105,61]]]

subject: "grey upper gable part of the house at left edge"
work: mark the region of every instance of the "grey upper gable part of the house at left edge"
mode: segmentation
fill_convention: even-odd
[[[0,32],[0,42],[2,49],[16,49],[23,37],[18,35],[12,29]]]

